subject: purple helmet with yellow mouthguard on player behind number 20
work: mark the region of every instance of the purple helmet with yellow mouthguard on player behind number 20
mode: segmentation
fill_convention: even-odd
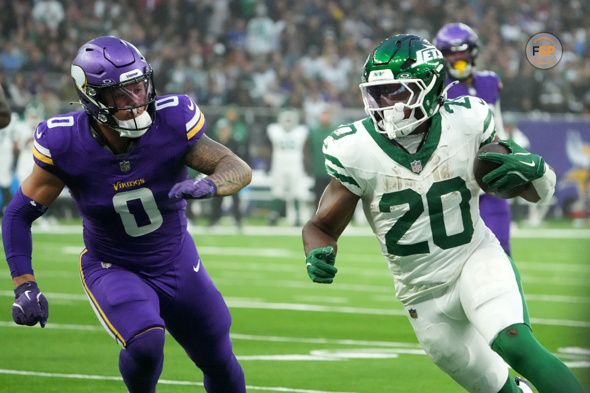
[[[479,38],[464,23],[444,25],[434,38],[434,46],[442,52],[449,75],[463,80],[473,74],[479,49]]]

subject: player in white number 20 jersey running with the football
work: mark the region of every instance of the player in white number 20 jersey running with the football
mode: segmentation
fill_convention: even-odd
[[[307,273],[331,283],[337,239],[362,200],[394,276],[396,296],[432,361],[469,392],[583,393],[569,368],[533,336],[520,276],[481,220],[473,174],[477,150],[497,141],[480,98],[446,100],[441,52],[415,35],[386,39],[369,55],[360,84],[370,117],[324,141],[333,179],[303,228]],[[512,140],[491,189],[526,184],[530,202],[553,194],[555,173]],[[506,363],[504,363],[506,361]]]

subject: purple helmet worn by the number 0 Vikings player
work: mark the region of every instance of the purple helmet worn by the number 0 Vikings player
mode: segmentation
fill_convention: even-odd
[[[152,67],[129,42],[116,37],[86,42],[72,62],[71,75],[86,112],[121,136],[142,136],[155,121]],[[118,112],[123,119],[115,117]]]

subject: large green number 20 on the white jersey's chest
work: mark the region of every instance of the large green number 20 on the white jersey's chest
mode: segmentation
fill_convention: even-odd
[[[463,222],[463,232],[447,235],[444,223],[444,213],[442,211],[442,196],[452,192],[458,192],[461,196],[461,202],[458,207],[461,211],[461,220]],[[433,183],[426,193],[428,204],[428,213],[430,217],[430,228],[432,230],[432,241],[441,249],[450,249],[453,247],[467,244],[473,236],[473,222],[469,209],[469,199],[471,192],[467,189],[465,181],[460,177],[453,179],[437,181]],[[385,244],[387,252],[398,256],[408,256],[414,254],[429,253],[428,242],[413,243],[410,245],[399,244],[399,239],[410,229],[419,216],[424,212],[424,203],[422,196],[412,189],[395,191],[394,193],[383,194],[379,201],[379,211],[383,213],[391,212],[392,206],[409,204],[409,210],[399,217],[394,226],[385,234]]]

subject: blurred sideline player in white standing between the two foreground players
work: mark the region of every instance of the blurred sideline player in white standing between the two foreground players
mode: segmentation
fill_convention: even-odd
[[[303,149],[309,130],[299,123],[299,113],[294,109],[278,114],[277,123],[267,127],[273,146],[270,167],[271,194],[274,198],[271,223],[280,216],[281,203],[286,204],[287,222],[299,225],[310,199],[309,178],[303,168]]]

